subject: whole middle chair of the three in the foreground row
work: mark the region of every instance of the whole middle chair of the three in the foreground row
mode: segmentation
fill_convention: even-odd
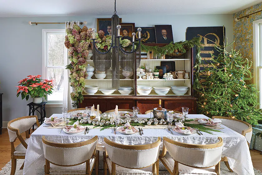
[[[104,138],[104,175],[158,175],[161,139],[147,145],[122,145]]]

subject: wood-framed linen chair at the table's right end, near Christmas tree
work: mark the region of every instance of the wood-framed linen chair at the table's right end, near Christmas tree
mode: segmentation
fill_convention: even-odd
[[[226,127],[234,130],[235,132],[245,136],[248,146],[250,145],[251,137],[252,137],[252,126],[249,123],[230,117],[221,117],[221,116],[212,117],[212,119],[215,118],[220,119],[222,121],[221,122],[222,125],[225,125]],[[234,172],[229,166],[227,157],[222,157],[221,161],[225,162],[226,167],[229,169],[230,172]]]

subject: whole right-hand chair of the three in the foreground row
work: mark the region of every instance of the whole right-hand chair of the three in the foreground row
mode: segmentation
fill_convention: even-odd
[[[220,175],[222,146],[221,137],[218,137],[216,143],[208,145],[181,143],[164,137],[163,151],[159,155],[159,160],[171,175]]]

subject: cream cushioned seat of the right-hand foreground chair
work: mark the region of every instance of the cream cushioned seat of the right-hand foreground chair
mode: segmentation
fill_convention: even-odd
[[[168,152],[166,153],[165,157],[162,158],[162,160],[166,163],[168,168],[171,171],[173,171],[175,161]],[[216,175],[215,167],[198,169],[178,163],[178,170],[179,170],[179,174],[184,174],[184,175],[199,175],[199,174]]]

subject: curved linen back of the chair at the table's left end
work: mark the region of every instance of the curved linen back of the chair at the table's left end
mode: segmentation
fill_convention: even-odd
[[[10,142],[14,142],[18,134],[28,131],[35,123],[38,123],[38,118],[35,115],[15,118],[8,122],[7,131]]]

